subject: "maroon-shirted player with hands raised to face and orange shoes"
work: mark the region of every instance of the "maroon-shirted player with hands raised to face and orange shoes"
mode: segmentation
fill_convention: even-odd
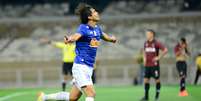
[[[186,90],[186,75],[187,75],[187,57],[190,55],[188,45],[185,38],[181,38],[174,48],[176,55],[176,67],[180,77],[180,92],[179,96],[188,96]]]

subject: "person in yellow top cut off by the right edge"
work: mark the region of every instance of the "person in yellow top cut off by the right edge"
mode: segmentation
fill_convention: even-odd
[[[197,66],[197,70],[196,70],[196,74],[195,74],[196,76],[195,76],[194,85],[197,85],[199,76],[201,75],[201,52],[196,57],[195,64]]]

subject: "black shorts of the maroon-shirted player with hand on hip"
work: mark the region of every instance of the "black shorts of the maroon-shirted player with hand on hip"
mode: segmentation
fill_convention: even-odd
[[[154,67],[145,67],[144,70],[144,78],[151,78],[159,79],[160,78],[160,68],[159,66]]]

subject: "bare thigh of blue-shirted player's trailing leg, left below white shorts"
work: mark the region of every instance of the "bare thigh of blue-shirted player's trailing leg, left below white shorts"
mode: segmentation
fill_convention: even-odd
[[[78,101],[81,95],[82,92],[75,85],[73,85],[70,91],[70,101]]]

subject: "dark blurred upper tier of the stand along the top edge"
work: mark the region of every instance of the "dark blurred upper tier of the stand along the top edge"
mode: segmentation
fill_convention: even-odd
[[[97,2],[100,1],[98,0]],[[95,3],[92,0],[89,4],[93,5]],[[194,0],[194,2],[188,0],[102,0],[99,4],[94,6],[104,15],[157,14],[201,10],[199,0]],[[75,7],[73,7],[73,10],[71,8],[70,0],[69,2],[61,3],[6,4],[0,6],[0,17],[65,16],[73,14]]]

